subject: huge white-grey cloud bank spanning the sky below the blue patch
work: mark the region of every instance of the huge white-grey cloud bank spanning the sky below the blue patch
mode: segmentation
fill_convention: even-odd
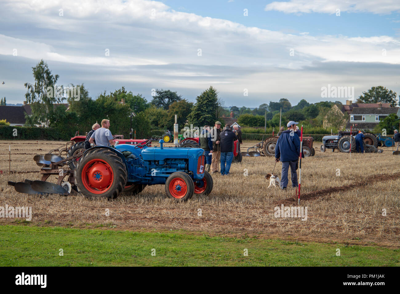
[[[367,83],[373,79],[365,77],[373,62],[400,64],[399,41],[390,36],[284,34],[176,12],[162,2],[144,0],[3,3],[0,57],[16,64],[30,59],[29,66],[23,61],[28,74],[43,58],[56,66],[54,73],[60,74],[62,83],[88,82],[95,87],[89,89],[94,94],[104,87],[114,90],[129,84],[146,91],[171,88],[198,94],[213,84],[221,96],[238,97],[238,101],[243,101],[243,88],[248,88],[251,96],[245,104],[285,93],[307,97],[328,83]],[[64,16],[58,15],[60,8]],[[13,48],[18,56],[12,56]],[[110,56],[105,56],[106,48]],[[291,49],[294,56],[289,54]],[[324,66],[335,63],[342,64],[336,73],[323,72]],[[349,75],[348,67],[354,63],[369,67]],[[344,73],[338,74],[341,70]],[[391,80],[386,73],[379,77]],[[27,81],[24,76],[18,91],[25,92]]]

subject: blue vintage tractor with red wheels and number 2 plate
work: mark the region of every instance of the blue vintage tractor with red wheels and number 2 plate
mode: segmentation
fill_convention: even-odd
[[[86,150],[75,169],[75,182],[90,198],[116,198],[126,192],[138,194],[147,185],[165,185],[168,197],[186,201],[193,194],[206,195],[213,180],[204,170],[201,148],[148,147],[152,140],[136,146],[95,146]]]

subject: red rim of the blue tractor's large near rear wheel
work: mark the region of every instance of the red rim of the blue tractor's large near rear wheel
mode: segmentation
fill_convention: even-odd
[[[102,159],[92,159],[82,169],[82,183],[90,193],[103,194],[113,182],[112,168]]]

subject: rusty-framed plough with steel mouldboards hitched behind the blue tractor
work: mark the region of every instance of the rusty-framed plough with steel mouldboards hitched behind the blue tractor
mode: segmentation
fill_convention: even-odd
[[[78,194],[78,188],[75,185],[74,170],[67,169],[68,163],[79,158],[83,152],[74,156],[63,158],[56,154],[48,153],[46,155],[35,155],[34,161],[38,166],[41,166],[40,180],[24,182],[8,182],[8,185],[14,186],[17,192],[25,194],[61,194],[70,195]],[[46,182],[51,175],[58,176],[57,184]],[[66,179],[66,177],[68,177]]]

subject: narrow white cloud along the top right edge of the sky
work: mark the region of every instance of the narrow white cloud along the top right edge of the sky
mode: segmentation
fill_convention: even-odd
[[[400,11],[398,0],[290,0],[287,2],[272,2],[265,6],[266,11],[277,10],[284,13],[336,13],[340,12],[371,12],[374,14],[389,14]]]

